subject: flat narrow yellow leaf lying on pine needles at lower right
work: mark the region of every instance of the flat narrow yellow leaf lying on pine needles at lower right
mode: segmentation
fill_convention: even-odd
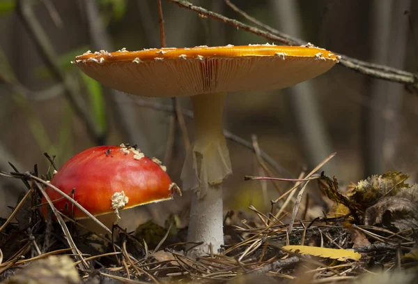
[[[359,253],[341,248],[319,248],[318,246],[283,246],[282,248],[295,253],[327,257],[339,261],[359,260],[362,257]]]

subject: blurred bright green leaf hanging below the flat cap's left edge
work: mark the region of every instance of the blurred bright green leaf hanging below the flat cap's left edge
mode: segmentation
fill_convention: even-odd
[[[100,130],[104,131],[107,128],[107,123],[102,86],[99,82],[91,79],[91,77],[88,77],[81,70],[79,71],[79,74],[82,77],[84,84],[86,84],[88,98],[93,112],[93,119],[95,119],[95,123],[98,124]]]

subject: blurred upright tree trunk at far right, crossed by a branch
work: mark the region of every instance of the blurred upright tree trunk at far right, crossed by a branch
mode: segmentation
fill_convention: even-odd
[[[410,0],[373,0],[371,9],[371,59],[374,63],[402,68],[407,44]],[[371,108],[368,114],[366,141],[364,141],[366,167],[364,176],[382,174],[390,170],[396,158],[398,119],[402,101],[402,86],[392,82],[373,80]]]

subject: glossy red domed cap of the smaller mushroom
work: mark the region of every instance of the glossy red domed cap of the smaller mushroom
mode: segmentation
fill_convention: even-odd
[[[98,216],[115,209],[127,209],[151,202],[170,200],[180,193],[157,158],[147,158],[132,147],[100,146],[86,149],[68,160],[51,180],[91,214]],[[46,190],[59,211],[74,218],[86,218],[77,207],[61,198],[52,188]],[[46,202],[42,197],[42,203]],[[121,203],[122,202],[122,203]],[[71,212],[73,210],[73,212]],[[46,216],[47,207],[42,207]]]

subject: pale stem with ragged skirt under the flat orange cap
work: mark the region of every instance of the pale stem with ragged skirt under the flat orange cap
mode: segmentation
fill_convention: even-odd
[[[232,173],[222,128],[225,93],[192,96],[195,139],[182,172],[183,188],[194,189],[187,241],[202,242],[196,255],[224,244],[222,182]]]

